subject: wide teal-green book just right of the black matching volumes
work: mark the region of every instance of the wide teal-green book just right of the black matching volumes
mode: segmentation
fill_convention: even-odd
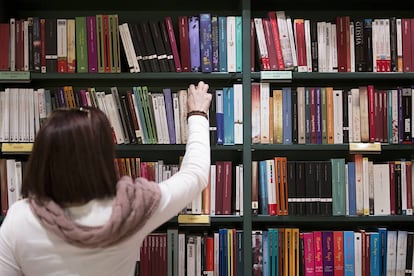
[[[332,158],[332,215],[345,216],[345,158]]]

